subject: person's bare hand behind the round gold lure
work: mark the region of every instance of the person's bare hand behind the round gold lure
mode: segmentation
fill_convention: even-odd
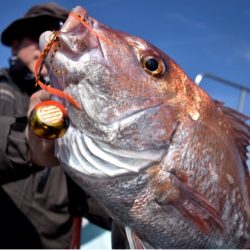
[[[34,93],[30,98],[28,118],[37,104],[49,99],[50,94],[44,90]],[[26,139],[32,163],[44,167],[52,167],[59,164],[58,159],[55,157],[55,140],[38,137],[32,132],[29,126],[26,128]]]

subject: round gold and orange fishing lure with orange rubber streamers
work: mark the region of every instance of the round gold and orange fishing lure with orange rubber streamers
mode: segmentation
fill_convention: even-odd
[[[80,15],[71,12],[69,16],[77,19],[82,25],[85,26],[85,28],[87,28],[100,40],[102,40],[109,46],[115,47],[115,45],[109,39],[93,30],[93,28]],[[36,84],[38,84],[42,89],[46,90],[52,95],[65,98],[69,103],[80,110],[80,105],[72,96],[59,89],[44,84],[40,79],[40,73],[44,66],[44,61],[47,55],[49,54],[49,52],[56,53],[58,48],[60,47],[58,38],[59,33],[60,31],[52,32],[52,38],[46,44],[45,48],[42,50],[36,61],[34,69]],[[39,137],[46,139],[56,139],[58,137],[62,137],[69,127],[69,117],[67,110],[62,104],[56,101],[41,102],[32,110],[29,119],[29,126],[34,134]]]

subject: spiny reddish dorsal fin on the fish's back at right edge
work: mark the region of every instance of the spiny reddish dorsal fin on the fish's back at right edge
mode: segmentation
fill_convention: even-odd
[[[236,144],[236,147],[239,150],[242,164],[244,167],[244,172],[246,175],[248,195],[250,199],[250,173],[247,166],[247,147],[250,145],[250,126],[246,123],[247,120],[250,120],[250,117],[234,110],[229,107],[225,107],[223,103],[215,101],[218,107],[222,110],[225,117],[230,122],[232,135]]]

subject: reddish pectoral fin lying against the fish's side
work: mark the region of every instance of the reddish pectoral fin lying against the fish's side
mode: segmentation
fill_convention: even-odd
[[[224,230],[220,213],[202,193],[196,191],[172,173],[163,185],[163,187],[159,187],[160,192],[156,202],[164,210],[169,211],[171,206],[175,207],[182,216],[192,220],[204,233],[208,233],[215,228],[220,231]]]

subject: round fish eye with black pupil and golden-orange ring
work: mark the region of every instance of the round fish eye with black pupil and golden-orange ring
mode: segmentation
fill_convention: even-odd
[[[144,54],[141,57],[143,69],[150,75],[160,76],[164,73],[165,67],[161,58],[153,54]]]

